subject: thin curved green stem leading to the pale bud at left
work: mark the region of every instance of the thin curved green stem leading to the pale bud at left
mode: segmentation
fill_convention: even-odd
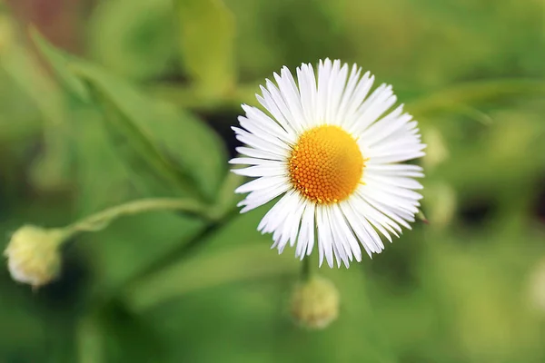
[[[76,221],[66,227],[72,234],[83,231],[100,231],[112,221],[131,214],[145,211],[183,211],[196,214],[207,220],[214,220],[213,214],[202,203],[189,199],[150,198],[140,201],[129,201],[124,204],[99,211],[83,220]]]

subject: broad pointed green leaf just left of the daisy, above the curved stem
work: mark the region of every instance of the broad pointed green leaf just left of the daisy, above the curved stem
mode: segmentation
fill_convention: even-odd
[[[213,200],[226,170],[223,142],[213,130],[93,64],[64,56],[39,34],[33,36],[62,79],[81,85],[86,99],[92,94],[124,162],[132,166],[134,178],[151,181],[151,194]]]

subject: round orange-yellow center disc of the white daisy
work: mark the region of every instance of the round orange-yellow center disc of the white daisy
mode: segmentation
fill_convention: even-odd
[[[348,198],[362,180],[362,152],[351,134],[323,125],[303,132],[289,160],[292,184],[318,203]]]

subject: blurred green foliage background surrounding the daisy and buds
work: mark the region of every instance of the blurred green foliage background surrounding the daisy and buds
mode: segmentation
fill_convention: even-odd
[[[255,104],[257,84],[282,65],[325,57],[393,84],[421,123],[430,224],[417,221],[350,270],[322,268],[340,291],[340,317],[308,331],[289,314],[294,251],[277,256],[255,231],[266,209],[230,209],[219,224],[126,217],[71,241],[61,278],[45,288],[0,270],[0,362],[545,361],[542,1],[1,9],[2,248],[25,223],[64,226],[136,198],[198,194],[231,208],[240,181],[225,181],[226,161],[240,103]],[[29,25],[79,58],[33,41]],[[157,178],[113,120],[142,127],[197,188]]]

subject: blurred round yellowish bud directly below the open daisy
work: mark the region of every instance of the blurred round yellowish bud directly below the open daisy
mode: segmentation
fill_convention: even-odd
[[[292,317],[308,329],[324,329],[339,315],[339,292],[330,280],[312,277],[297,284]]]

